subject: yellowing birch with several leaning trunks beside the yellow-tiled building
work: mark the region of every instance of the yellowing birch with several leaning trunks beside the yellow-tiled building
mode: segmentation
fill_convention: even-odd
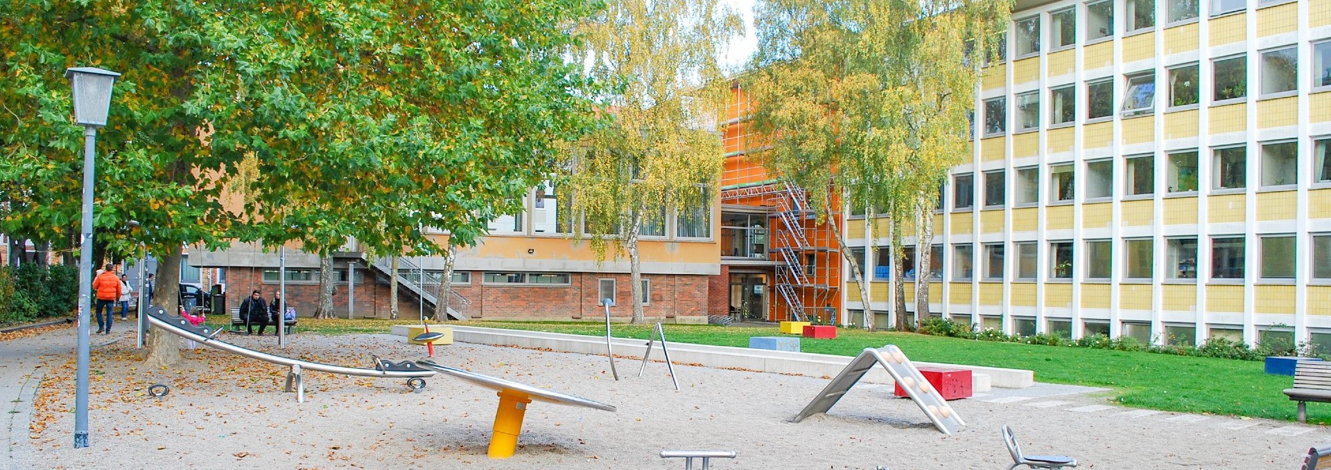
[[[978,80],[968,48],[1001,31],[1010,8],[1008,0],[760,1],[748,85],[768,165],[809,190],[820,220],[843,195],[869,219],[882,211],[900,227],[922,214],[928,227],[940,183],[966,151]],[[868,279],[831,222],[873,329]],[[901,230],[890,236],[900,242]],[[928,283],[920,284],[928,312]]]

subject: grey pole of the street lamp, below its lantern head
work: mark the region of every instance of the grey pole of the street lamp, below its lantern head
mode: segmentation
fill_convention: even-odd
[[[92,315],[92,181],[97,127],[84,127],[83,238],[79,240],[79,358],[75,374],[75,449],[88,446],[89,316]]]

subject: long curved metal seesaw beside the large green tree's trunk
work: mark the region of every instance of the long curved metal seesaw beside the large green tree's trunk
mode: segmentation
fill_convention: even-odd
[[[198,344],[217,348],[233,354],[257,358],[265,362],[273,362],[290,368],[290,370],[287,370],[286,373],[286,392],[295,392],[295,401],[298,402],[305,402],[305,381],[301,378],[302,370],[327,372],[343,376],[359,376],[359,377],[407,378],[407,388],[413,390],[419,390],[421,388],[425,388],[423,377],[434,376],[434,370],[423,369],[417,364],[413,364],[411,361],[393,362],[374,357],[374,369],[365,369],[365,368],[349,368],[342,365],[311,362],[299,358],[274,356],[265,352],[258,352],[254,349],[234,345],[216,339],[217,333],[224,332],[225,329],[194,327],[182,317],[166,315],[166,311],[162,309],[161,307],[153,307],[148,311],[148,321],[153,327],[157,327],[161,331],[184,337],[186,340],[193,340],[194,343]],[[418,380],[419,382],[417,382]]]

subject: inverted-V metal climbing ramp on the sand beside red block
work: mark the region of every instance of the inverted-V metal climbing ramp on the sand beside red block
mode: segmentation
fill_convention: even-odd
[[[933,421],[940,431],[952,435],[958,426],[966,425],[952,409],[952,405],[942,400],[938,390],[920,374],[920,369],[910,364],[901,348],[892,344],[880,349],[864,348],[860,356],[847,364],[845,369],[841,369],[841,373],[832,378],[832,382],[823,388],[823,392],[819,392],[819,396],[808,406],[804,406],[804,410],[795,417],[795,422],[804,421],[813,414],[827,413],[869,369],[873,369],[874,364],[882,365],[892,374],[892,380],[901,384],[910,400],[920,406],[920,410],[929,417],[929,421]]]

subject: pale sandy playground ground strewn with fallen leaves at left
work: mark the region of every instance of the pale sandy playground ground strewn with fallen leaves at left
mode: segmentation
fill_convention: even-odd
[[[60,331],[52,335],[72,335]],[[128,333],[132,335],[132,333]],[[425,349],[387,335],[289,339],[226,337],[256,349],[323,362],[370,364],[425,358]],[[24,341],[20,339],[19,341]],[[71,341],[73,344],[73,341]],[[906,352],[909,354],[909,352]],[[306,372],[306,402],[282,393],[280,366],[201,348],[184,366],[140,370],[132,337],[93,357],[91,447],[72,449],[73,358],[52,356],[35,402],[32,455],[19,469],[681,469],[663,449],[735,450],[713,469],[1005,469],[1012,459],[1000,428],[1012,425],[1030,454],[1070,454],[1082,469],[1288,469],[1324,428],[1298,435],[1267,433],[1287,422],[1174,413],[1125,416],[1091,396],[1047,400],[1066,405],[954,401],[966,421],[956,435],[938,433],[892,389],[861,384],[828,416],[789,420],[827,380],[676,365],[675,392],[663,362],[639,378],[639,361],[619,360],[620,381],[606,357],[457,344],[435,348],[435,361],[527,382],[619,408],[608,413],[534,402],[514,458],[486,457],[494,390],[434,377],[422,393],[399,380]],[[1037,380],[1040,377],[1036,377]],[[148,385],[172,386],[165,398]],[[1291,402],[1290,406],[1294,406]],[[1243,429],[1227,426],[1251,425]],[[1302,429],[1302,428],[1300,428]],[[27,465],[27,466],[24,466]]]

